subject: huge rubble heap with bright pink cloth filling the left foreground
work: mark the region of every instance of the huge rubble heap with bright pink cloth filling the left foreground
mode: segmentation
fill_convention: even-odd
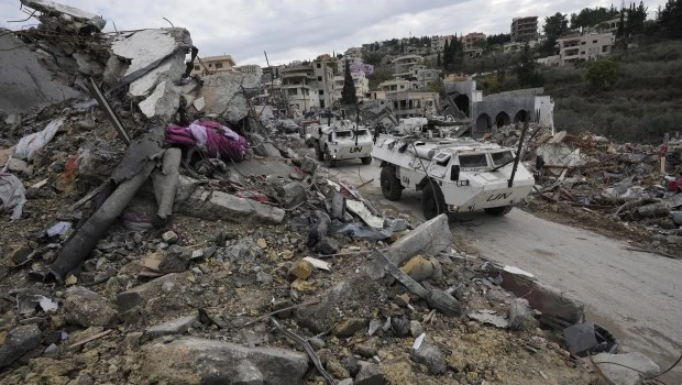
[[[459,251],[446,216],[385,216],[273,136],[289,123],[256,113],[248,76],[189,78],[186,30],[103,34],[22,3],[41,25],[0,36],[31,66],[2,76],[0,382],[640,378],[614,341],[573,343],[596,336],[578,299]]]

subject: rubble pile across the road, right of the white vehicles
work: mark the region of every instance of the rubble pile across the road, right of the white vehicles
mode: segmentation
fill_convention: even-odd
[[[490,139],[516,147],[521,131],[507,127]],[[682,140],[618,144],[530,124],[524,147],[538,180],[528,209],[630,240],[634,249],[682,255]]]

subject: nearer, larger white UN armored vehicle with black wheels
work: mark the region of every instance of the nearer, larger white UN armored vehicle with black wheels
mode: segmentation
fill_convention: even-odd
[[[513,148],[452,139],[448,129],[424,132],[424,125],[414,123],[402,122],[397,134],[378,135],[374,144],[372,156],[382,162],[387,199],[400,199],[406,188],[422,191],[427,219],[480,209],[504,216],[530,193],[535,179],[515,162]]]

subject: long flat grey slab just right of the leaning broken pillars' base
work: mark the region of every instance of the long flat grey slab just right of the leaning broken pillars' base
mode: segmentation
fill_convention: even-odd
[[[175,198],[175,212],[207,220],[221,219],[240,223],[244,221],[282,223],[285,213],[277,207],[205,189],[185,177],[180,177],[180,186]]]

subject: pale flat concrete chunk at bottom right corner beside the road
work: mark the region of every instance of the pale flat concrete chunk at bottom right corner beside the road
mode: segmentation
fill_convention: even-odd
[[[642,375],[651,377],[658,375],[661,371],[659,365],[638,352],[625,354],[600,353],[594,355],[592,360],[602,370],[606,378],[613,384],[618,385],[641,385],[644,384]]]

